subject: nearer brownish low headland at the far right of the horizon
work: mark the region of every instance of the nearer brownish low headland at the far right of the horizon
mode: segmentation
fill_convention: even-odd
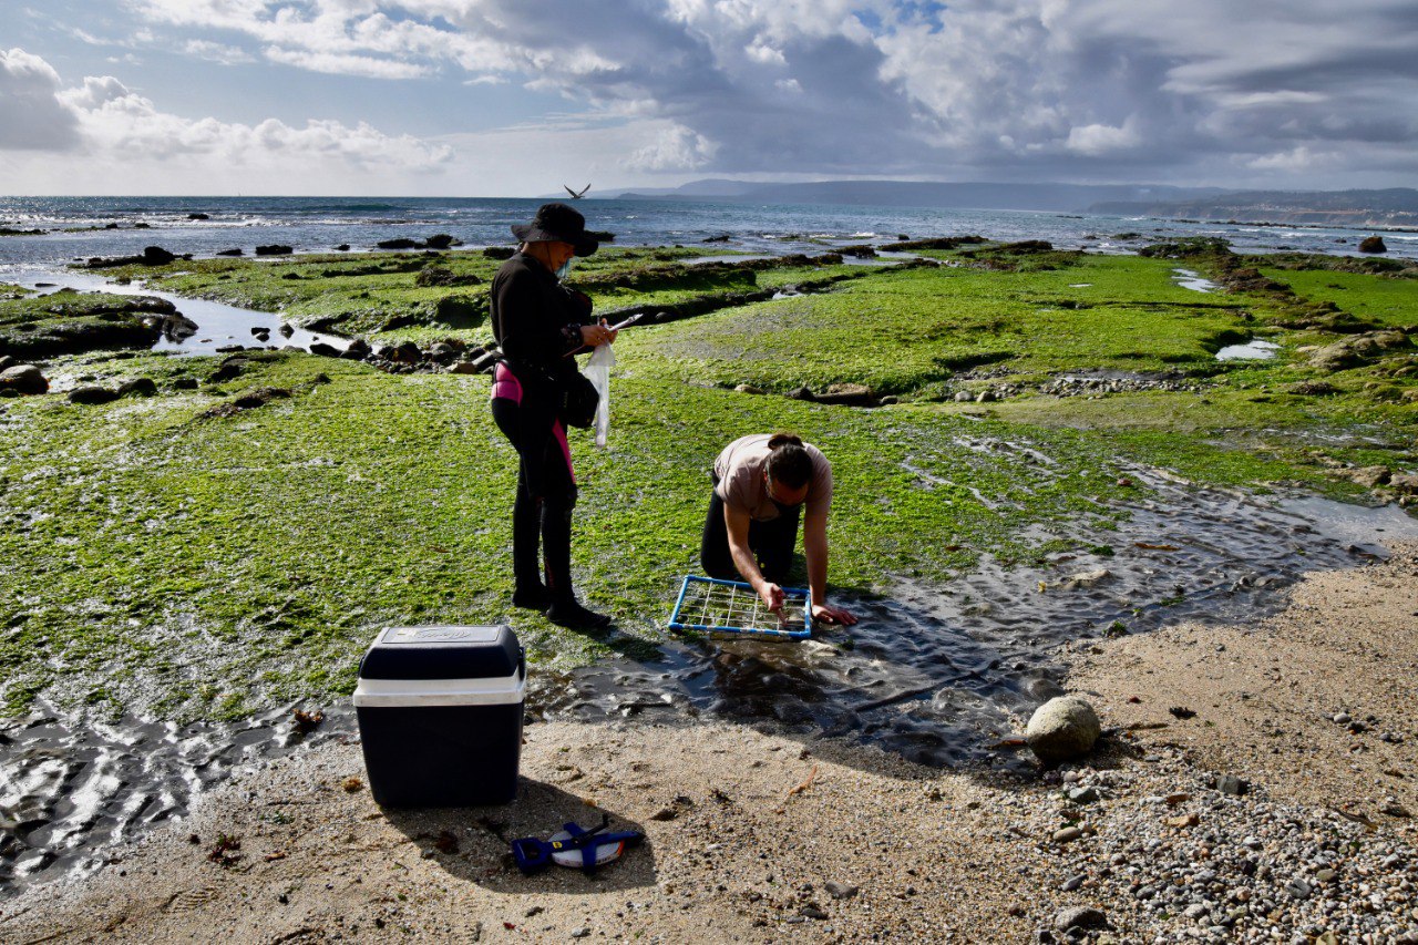
[[[1235,190],[1188,200],[1109,200],[1089,213],[1349,227],[1418,226],[1418,190]]]

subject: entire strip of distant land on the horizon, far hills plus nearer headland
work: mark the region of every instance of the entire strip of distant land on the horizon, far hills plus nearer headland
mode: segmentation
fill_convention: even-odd
[[[594,196],[621,200],[1046,210],[1120,217],[1183,217],[1349,227],[1418,226],[1418,190],[1409,187],[1280,192],[1166,184],[1012,184],[929,180],[754,183],[706,179],[679,187],[647,187]]]

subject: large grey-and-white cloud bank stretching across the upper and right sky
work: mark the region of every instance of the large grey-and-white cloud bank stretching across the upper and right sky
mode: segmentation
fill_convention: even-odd
[[[1322,0],[1190,0],[1166,13],[1136,0],[129,7],[149,24],[247,37],[295,68],[450,75],[475,84],[469,94],[506,79],[593,118],[654,122],[657,135],[674,131],[634,153],[657,173],[1299,182],[1346,166],[1418,172],[1408,0],[1351,0],[1341,17]]]

